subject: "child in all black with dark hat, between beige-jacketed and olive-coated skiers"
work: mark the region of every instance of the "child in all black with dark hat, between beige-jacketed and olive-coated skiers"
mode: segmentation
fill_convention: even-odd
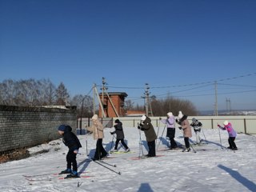
[[[116,134],[117,135],[117,140],[115,142],[114,150],[113,151],[118,151],[118,143],[121,141],[122,146],[125,147],[126,152],[129,152],[130,149],[126,145],[126,142],[124,142],[125,134],[123,133],[122,129],[122,122],[119,121],[119,119],[116,119],[114,125],[114,131],[110,132],[110,134]]]

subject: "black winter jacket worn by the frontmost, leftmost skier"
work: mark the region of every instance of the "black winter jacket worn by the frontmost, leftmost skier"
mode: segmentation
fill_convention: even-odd
[[[78,150],[80,147],[82,147],[78,137],[72,132],[72,128],[70,126],[66,126],[62,136],[62,142],[69,148],[70,151]]]

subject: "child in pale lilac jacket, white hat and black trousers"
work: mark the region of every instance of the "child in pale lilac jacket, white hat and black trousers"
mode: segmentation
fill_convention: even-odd
[[[167,114],[166,119],[159,118],[160,121],[167,125],[166,137],[170,138],[170,150],[177,148],[177,143],[175,142],[175,118],[172,112]]]

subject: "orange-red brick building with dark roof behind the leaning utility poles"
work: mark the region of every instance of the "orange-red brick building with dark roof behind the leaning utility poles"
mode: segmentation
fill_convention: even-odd
[[[110,98],[107,96],[110,96]],[[125,106],[125,98],[128,96],[125,92],[103,92],[103,109],[106,114],[106,118],[116,118],[116,117],[123,117],[126,115],[126,111],[124,110]],[[102,93],[99,94],[99,98],[102,102]],[[113,106],[111,104],[113,103]],[[98,116],[100,118],[103,117],[102,115],[102,106],[99,106],[99,113]]]

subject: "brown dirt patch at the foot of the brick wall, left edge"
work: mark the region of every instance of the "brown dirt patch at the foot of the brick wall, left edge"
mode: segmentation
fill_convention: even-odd
[[[29,157],[30,157],[30,153],[26,149],[10,150],[3,154],[0,154],[0,163],[10,162],[10,161],[19,160],[22,158],[29,158]]]

